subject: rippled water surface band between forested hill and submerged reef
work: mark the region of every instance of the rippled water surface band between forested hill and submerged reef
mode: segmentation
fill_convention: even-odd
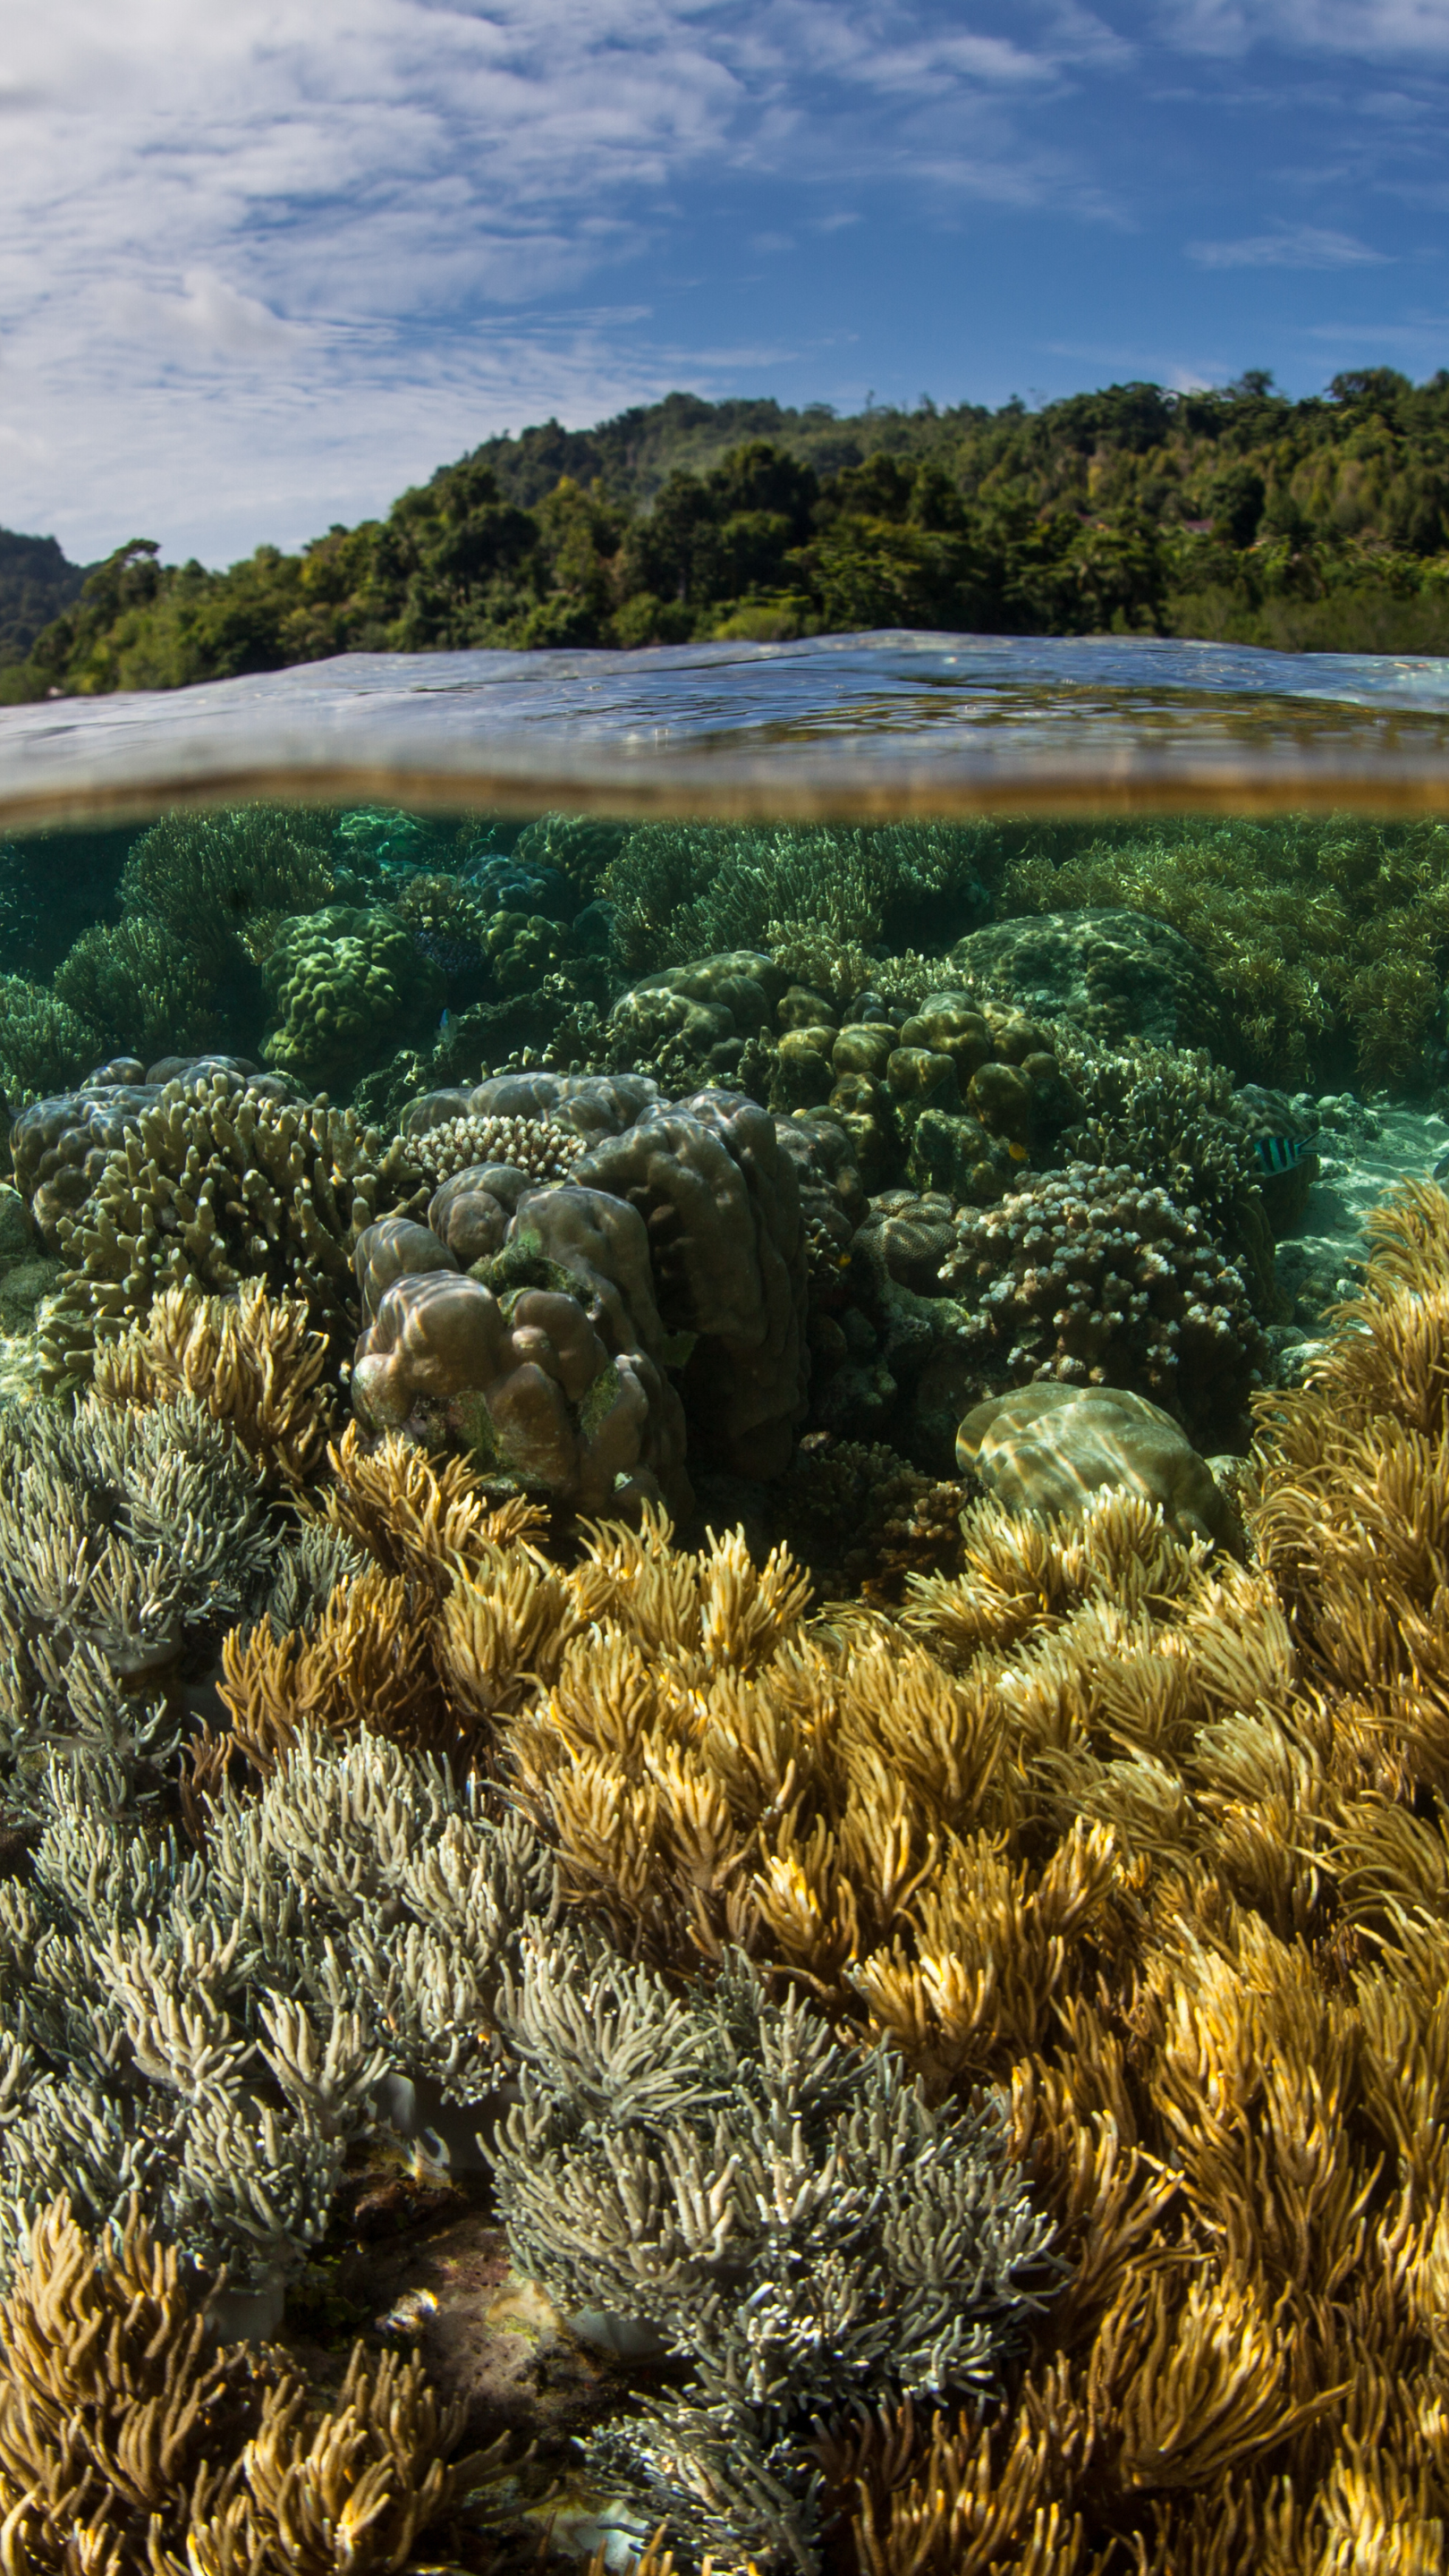
[[[1449,806],[1449,662],[874,634],[345,654],[0,711],[0,822],[186,796],[701,814]]]

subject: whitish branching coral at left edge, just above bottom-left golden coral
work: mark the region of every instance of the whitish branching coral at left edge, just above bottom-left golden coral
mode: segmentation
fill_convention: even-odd
[[[0,1883],[0,2269],[57,2192],[134,2197],[201,2272],[284,2282],[387,2074],[446,2099],[500,2071],[495,1986],[552,1865],[441,1762],[302,1734],[206,1847],[46,1772],[31,1880]]]

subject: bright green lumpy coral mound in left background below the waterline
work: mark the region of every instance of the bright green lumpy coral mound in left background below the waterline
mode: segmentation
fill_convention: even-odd
[[[425,1030],[443,1005],[441,974],[387,904],[327,904],[281,922],[266,992],[276,1020],[263,1059],[330,1090]]]

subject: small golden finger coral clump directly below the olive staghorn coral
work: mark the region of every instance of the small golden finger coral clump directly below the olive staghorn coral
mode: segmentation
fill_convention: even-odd
[[[204,1296],[191,1280],[162,1288],[144,1324],[95,1347],[93,1386],[108,1404],[196,1396],[227,1422],[273,1486],[317,1476],[333,1430],[322,1381],[327,1342],[304,1298],[273,1298],[260,1280]]]

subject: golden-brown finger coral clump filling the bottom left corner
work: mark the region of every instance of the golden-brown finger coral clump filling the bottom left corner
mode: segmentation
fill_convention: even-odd
[[[317,2409],[278,2352],[217,2352],[175,2251],[131,2208],[95,2246],[64,2197],[0,2303],[10,2563],[70,2576],[400,2568],[500,2445],[449,2465],[462,2409],[356,2344]],[[18,2555],[23,2553],[23,2555]]]

